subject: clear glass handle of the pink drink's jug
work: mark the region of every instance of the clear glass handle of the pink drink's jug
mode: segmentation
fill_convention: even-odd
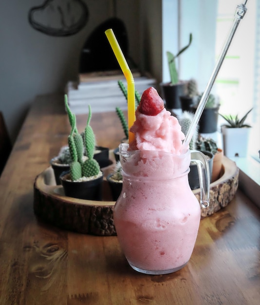
[[[200,204],[202,208],[209,206],[210,174],[208,160],[203,152],[191,151],[191,161],[195,162],[199,172],[200,180]]]

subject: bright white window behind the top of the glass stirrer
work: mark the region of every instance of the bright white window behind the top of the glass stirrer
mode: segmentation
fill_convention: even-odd
[[[216,58],[234,20],[238,0],[219,0]],[[253,107],[248,122],[253,126],[249,140],[251,155],[260,150],[260,1],[249,0],[215,83],[222,114],[245,114]],[[221,120],[221,118],[220,118]],[[241,143],[242,145],[242,143]]]

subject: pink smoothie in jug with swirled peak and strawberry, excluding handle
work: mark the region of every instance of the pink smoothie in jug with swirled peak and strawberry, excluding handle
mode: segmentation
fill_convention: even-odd
[[[180,152],[184,134],[154,90],[143,94],[137,108],[131,128],[135,140],[129,147],[120,145],[123,189],[114,207],[114,224],[130,266],[164,274],[190,259],[201,210],[188,184],[190,152]],[[156,114],[147,111],[146,97],[149,103],[155,98]]]

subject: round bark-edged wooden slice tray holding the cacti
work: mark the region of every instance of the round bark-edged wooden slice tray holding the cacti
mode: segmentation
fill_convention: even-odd
[[[109,169],[106,170],[108,172]],[[239,169],[235,162],[224,157],[221,178],[210,184],[210,206],[202,209],[202,218],[227,206],[237,191],[238,176]],[[199,200],[200,190],[193,192]],[[55,183],[51,167],[35,179],[35,214],[43,221],[62,229],[101,236],[116,235],[113,224],[114,204],[106,179],[103,181],[103,201],[65,196],[62,186]]]

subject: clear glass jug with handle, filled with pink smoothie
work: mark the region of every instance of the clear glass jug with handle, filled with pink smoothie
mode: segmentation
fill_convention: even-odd
[[[188,184],[190,151],[177,155],[128,147],[119,146],[123,188],[113,214],[120,246],[139,272],[175,272],[190,259],[201,206],[208,205],[207,160],[203,153],[192,152],[200,174],[200,205]]]

